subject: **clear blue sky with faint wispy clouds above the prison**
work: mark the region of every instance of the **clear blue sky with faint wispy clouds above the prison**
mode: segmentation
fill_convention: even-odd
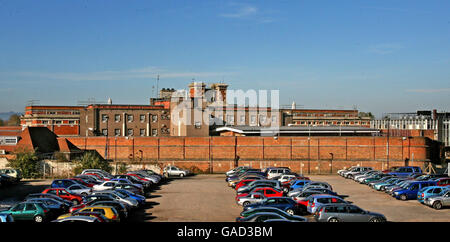
[[[224,80],[280,102],[450,111],[450,1],[0,0],[0,112]]]

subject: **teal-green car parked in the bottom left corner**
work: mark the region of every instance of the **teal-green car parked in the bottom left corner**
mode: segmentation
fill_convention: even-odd
[[[48,221],[53,217],[51,210],[40,202],[20,202],[0,214],[10,214],[14,221]]]

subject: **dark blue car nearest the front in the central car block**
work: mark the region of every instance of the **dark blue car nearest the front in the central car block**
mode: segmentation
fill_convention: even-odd
[[[272,207],[281,209],[291,215],[302,214],[304,209],[290,197],[271,197],[259,203],[253,203],[244,207],[244,211],[259,207]]]

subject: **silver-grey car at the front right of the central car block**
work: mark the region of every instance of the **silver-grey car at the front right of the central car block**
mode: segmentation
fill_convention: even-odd
[[[365,211],[352,204],[326,204],[314,213],[317,222],[386,222],[380,213]]]

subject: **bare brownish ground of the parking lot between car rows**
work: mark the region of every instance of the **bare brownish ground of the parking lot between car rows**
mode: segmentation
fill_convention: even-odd
[[[449,222],[450,209],[434,210],[416,200],[400,201],[338,175],[311,175],[325,181],[338,194],[355,205],[382,213],[391,222]],[[233,222],[242,211],[235,203],[235,191],[224,181],[225,175],[195,175],[169,179],[150,190],[147,204],[136,211],[132,222]],[[40,192],[51,180],[22,181],[3,188],[0,206],[20,201],[27,194]],[[311,220],[311,216],[306,216]]]

